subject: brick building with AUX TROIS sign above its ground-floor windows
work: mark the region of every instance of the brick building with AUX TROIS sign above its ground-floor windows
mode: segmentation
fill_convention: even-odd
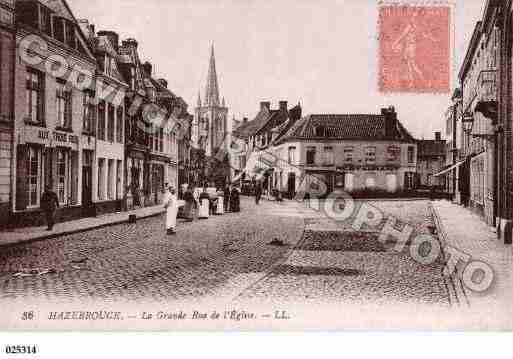
[[[39,221],[46,186],[57,193],[59,220],[80,217],[84,151],[96,144],[84,133],[96,59],[64,0],[17,1],[16,21],[11,224]]]

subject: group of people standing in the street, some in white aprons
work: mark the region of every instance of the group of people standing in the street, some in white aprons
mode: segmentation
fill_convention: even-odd
[[[222,204],[219,202],[221,198]],[[208,218],[213,214],[240,212],[240,191],[232,185],[225,186],[223,190],[217,188],[209,192],[207,187],[203,187],[201,191],[184,184],[177,194],[176,189],[170,186],[164,196],[163,204],[166,209],[167,234],[174,235],[179,212],[187,222],[192,222],[197,217]],[[219,211],[221,206],[222,211]],[[180,207],[181,211],[179,211]]]

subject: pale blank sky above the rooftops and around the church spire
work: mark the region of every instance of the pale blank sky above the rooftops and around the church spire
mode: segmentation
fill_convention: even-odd
[[[309,113],[379,113],[395,106],[417,138],[445,133],[450,93],[378,91],[376,0],[68,0],[96,30],[139,42],[157,78],[196,106],[205,93],[213,43],[230,118],[252,119],[260,101],[301,103]],[[425,3],[425,1],[424,1]],[[453,80],[485,0],[457,0]],[[453,81],[453,86],[456,83]]]

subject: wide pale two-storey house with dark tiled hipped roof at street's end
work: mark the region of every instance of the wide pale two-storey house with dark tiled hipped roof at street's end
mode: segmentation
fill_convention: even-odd
[[[274,173],[289,196],[312,187],[320,194],[415,188],[417,143],[393,107],[378,115],[306,116],[278,140],[275,153],[286,160]]]

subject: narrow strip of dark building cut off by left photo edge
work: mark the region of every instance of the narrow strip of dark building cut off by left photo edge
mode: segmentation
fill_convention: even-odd
[[[12,212],[14,135],[14,0],[0,1],[0,227]]]

